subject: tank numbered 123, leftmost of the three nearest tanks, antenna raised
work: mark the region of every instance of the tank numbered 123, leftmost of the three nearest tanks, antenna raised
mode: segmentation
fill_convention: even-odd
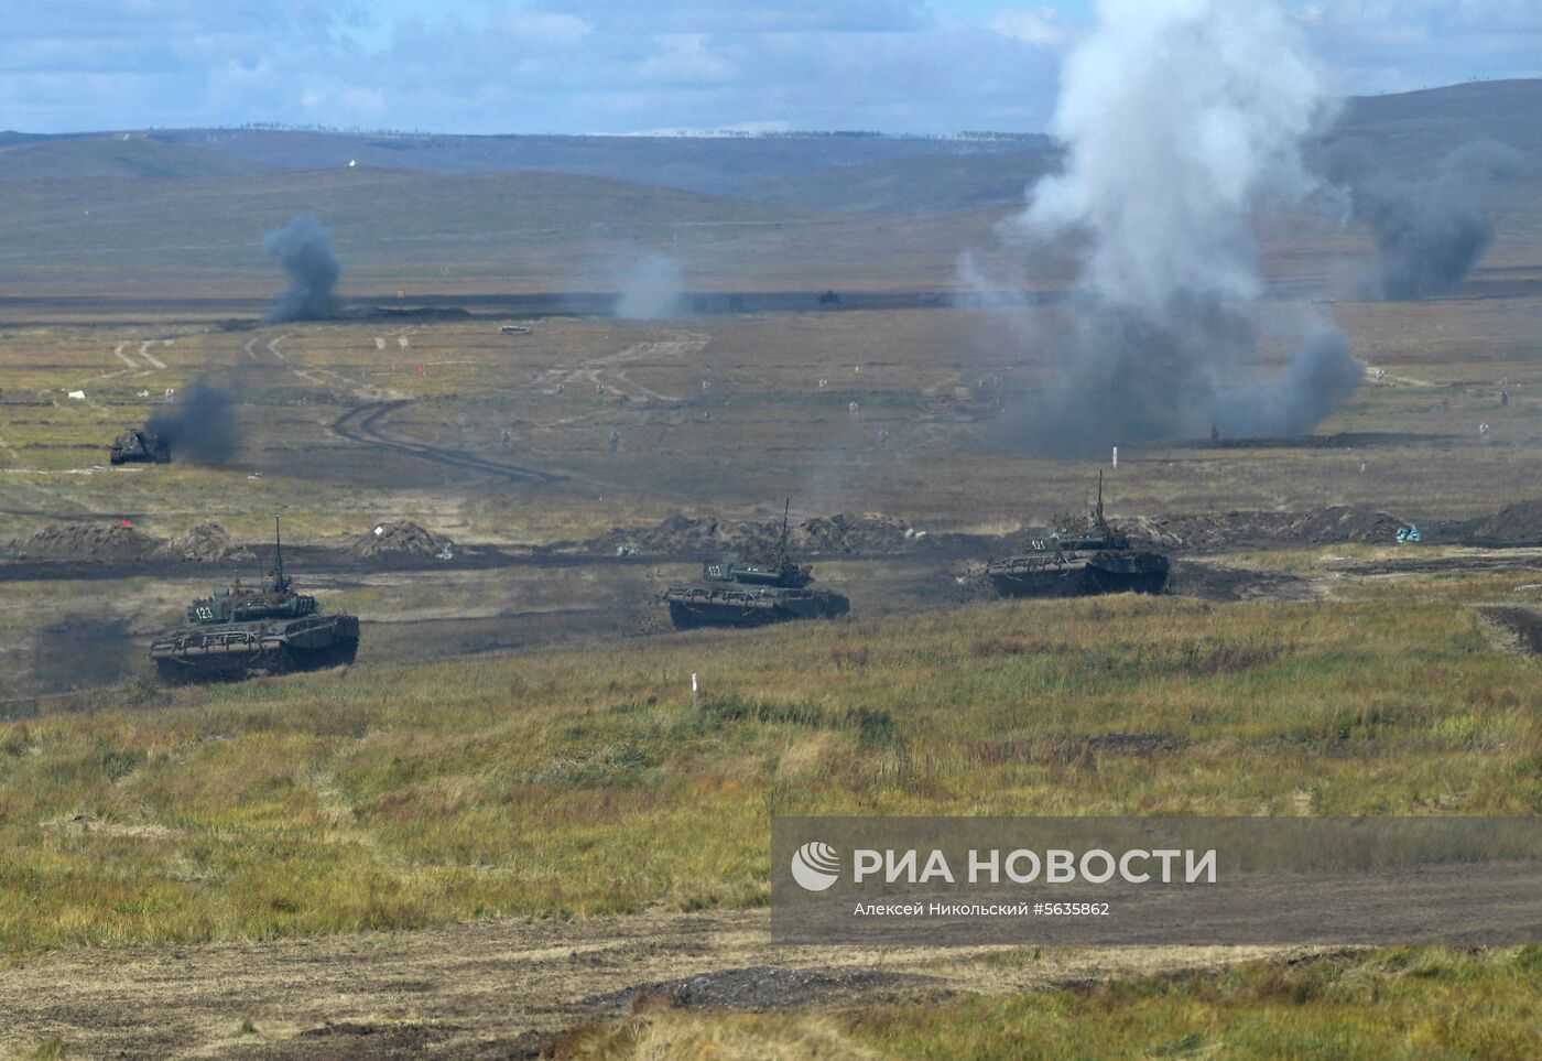
[[[187,625],[150,646],[165,682],[241,679],[253,674],[315,671],[352,663],[359,648],[356,615],[322,615],[316,598],[296,594],[284,574],[284,541],[273,518],[273,571],[258,586],[219,586],[194,600]]]

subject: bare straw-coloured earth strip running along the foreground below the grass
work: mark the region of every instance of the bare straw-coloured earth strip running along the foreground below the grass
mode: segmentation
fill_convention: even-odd
[[[69,1056],[521,1056],[563,1029],[625,1012],[629,989],[723,970],[822,970],[816,1004],[842,1005],[1160,975],[1269,953],[1280,950],[773,947],[763,910],[77,950],[0,968],[0,1053],[57,1038]],[[774,987],[763,995],[748,1007],[808,1004],[779,999]]]

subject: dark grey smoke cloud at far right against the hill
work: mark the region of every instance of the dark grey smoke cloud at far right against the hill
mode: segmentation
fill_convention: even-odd
[[[1453,290],[1494,242],[1483,197],[1520,167],[1520,153],[1480,140],[1448,154],[1433,176],[1409,177],[1379,170],[1365,142],[1343,140],[1323,165],[1375,239],[1380,270],[1366,293],[1419,299]]]

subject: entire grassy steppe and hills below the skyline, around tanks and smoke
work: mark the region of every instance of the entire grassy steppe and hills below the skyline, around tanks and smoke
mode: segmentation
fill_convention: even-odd
[[[765,905],[773,814],[1542,811],[1537,85],[1359,102],[1414,163],[1510,133],[1493,248],[1362,301],[1365,231],[1260,217],[1266,361],[1306,304],[1363,386],[1116,467],[1010,443],[1078,248],[1013,291],[1032,330],[982,304],[959,256],[1010,259],[1021,202],[979,159],[799,163],[790,207],[278,133],[0,147],[0,1052],[1527,1056],[1537,948],[777,948]],[[301,210],[342,312],[267,322]],[[682,264],[665,319],[612,313],[641,253]],[[200,381],[228,446],[108,464]],[[985,592],[1099,470],[1169,592]],[[850,617],[669,629],[785,498]],[[157,685],[150,638],[259,578],[274,514],[358,662]]]

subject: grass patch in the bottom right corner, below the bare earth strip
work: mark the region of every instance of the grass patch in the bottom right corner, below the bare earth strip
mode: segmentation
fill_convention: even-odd
[[[1388,950],[860,1013],[643,1012],[569,1058],[1528,1058],[1542,950]]]

